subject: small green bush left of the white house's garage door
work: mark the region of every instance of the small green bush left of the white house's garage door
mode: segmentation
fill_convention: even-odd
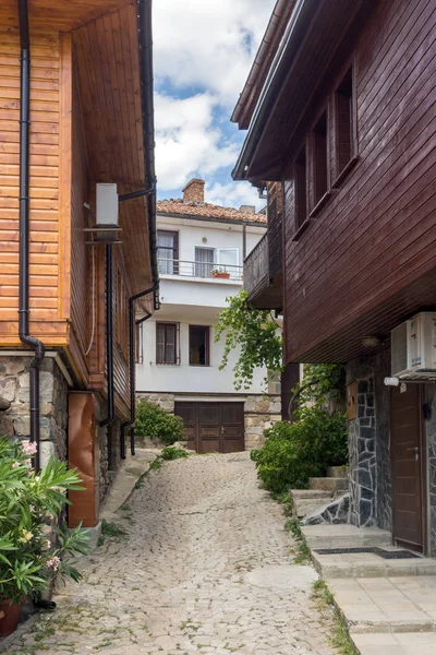
[[[140,437],[159,439],[171,444],[183,438],[183,421],[179,416],[168,414],[153,403],[137,403],[135,432]]]

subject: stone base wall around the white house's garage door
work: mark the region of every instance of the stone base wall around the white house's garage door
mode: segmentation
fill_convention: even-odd
[[[138,393],[137,400],[155,403],[169,413],[174,412],[175,394],[173,393]],[[214,397],[204,401],[214,402]],[[244,401],[245,449],[261,448],[264,443],[264,430],[281,420],[281,398],[277,394],[242,396]]]

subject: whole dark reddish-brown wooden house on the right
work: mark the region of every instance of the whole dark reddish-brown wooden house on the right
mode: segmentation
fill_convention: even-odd
[[[435,555],[434,384],[384,378],[391,331],[436,308],[436,7],[287,4],[233,116],[249,127],[233,175],[282,186],[286,361],[347,364],[356,391],[350,520]],[[259,307],[267,278],[246,282]]]

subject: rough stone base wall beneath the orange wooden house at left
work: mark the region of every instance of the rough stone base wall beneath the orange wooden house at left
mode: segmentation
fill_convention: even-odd
[[[0,355],[0,395],[11,403],[0,412],[0,433],[28,438],[31,433],[29,367],[32,357]],[[40,464],[56,453],[66,458],[68,384],[51,357],[46,357],[39,372]]]

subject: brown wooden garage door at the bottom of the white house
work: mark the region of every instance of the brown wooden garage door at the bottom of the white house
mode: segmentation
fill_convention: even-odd
[[[243,403],[175,403],[183,419],[187,446],[197,453],[244,450]]]

